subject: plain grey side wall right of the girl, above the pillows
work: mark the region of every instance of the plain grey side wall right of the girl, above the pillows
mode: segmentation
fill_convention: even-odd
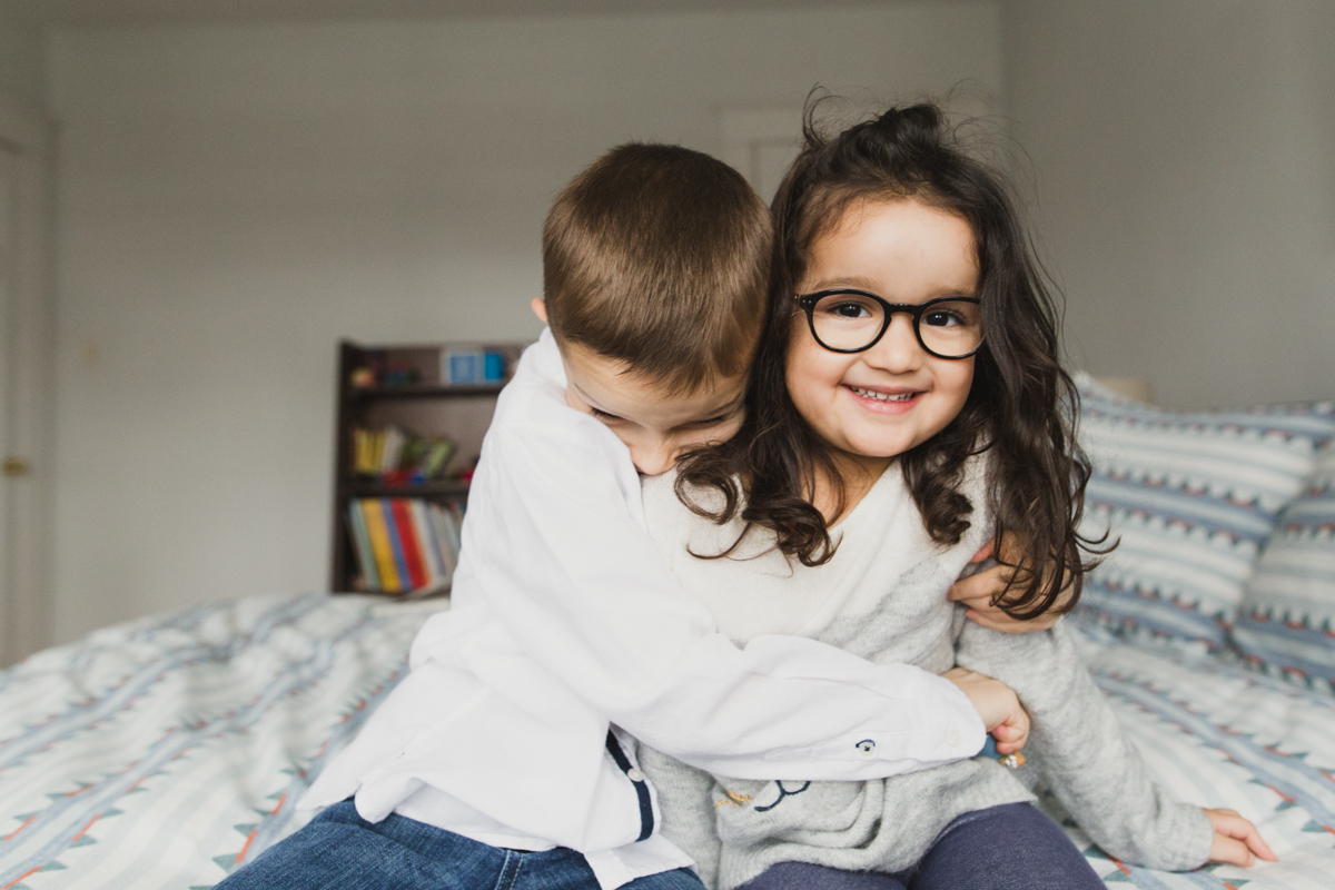
[[[1007,103],[1096,374],[1335,396],[1335,4],[1007,0]]]

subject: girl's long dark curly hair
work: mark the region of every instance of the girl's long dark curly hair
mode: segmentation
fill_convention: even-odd
[[[999,604],[1013,618],[1053,608],[1065,584],[1080,595],[1088,556],[1101,540],[1079,531],[1089,462],[1075,439],[1079,395],[1059,360],[1057,306],[1025,236],[1005,179],[963,149],[940,108],[890,108],[828,137],[808,103],[805,145],[774,197],[774,280],[770,312],[748,391],[746,420],[729,443],[680,463],[678,496],[720,523],[741,510],[748,531],[772,530],[776,546],[806,566],[834,555],[829,527],[812,506],[816,479],[829,479],[842,512],[844,486],[834,450],[802,419],[785,375],[794,324],[793,294],[812,244],[858,201],[913,199],[965,220],[973,231],[984,344],[960,414],[898,464],[932,539],[959,543],[973,506],[960,491],[965,462],[987,452],[988,507],[995,540],[1021,544]],[[741,479],[745,498],[736,486]],[[721,495],[718,510],[692,490]],[[738,539],[740,543],[740,539]],[[736,544],[734,544],[736,548]],[[722,556],[729,555],[729,550]],[[1060,567],[1061,571],[1055,571]]]

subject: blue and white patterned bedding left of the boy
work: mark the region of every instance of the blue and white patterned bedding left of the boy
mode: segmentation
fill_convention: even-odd
[[[308,777],[439,600],[252,598],[0,674],[0,887],[211,887],[298,829]]]

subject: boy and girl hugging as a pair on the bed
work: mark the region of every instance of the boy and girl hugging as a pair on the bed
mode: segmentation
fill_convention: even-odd
[[[1101,887],[1036,789],[1120,861],[1274,858],[1149,779],[1060,620],[1116,542],[953,133],[809,109],[773,208],[668,145],[561,192],[451,608],[220,887]]]

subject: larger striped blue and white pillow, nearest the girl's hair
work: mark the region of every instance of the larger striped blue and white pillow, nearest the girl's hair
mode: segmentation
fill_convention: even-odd
[[[1121,542],[1087,578],[1079,614],[1222,647],[1276,514],[1335,435],[1335,406],[1167,411],[1085,374],[1076,386],[1093,464],[1081,531]]]

